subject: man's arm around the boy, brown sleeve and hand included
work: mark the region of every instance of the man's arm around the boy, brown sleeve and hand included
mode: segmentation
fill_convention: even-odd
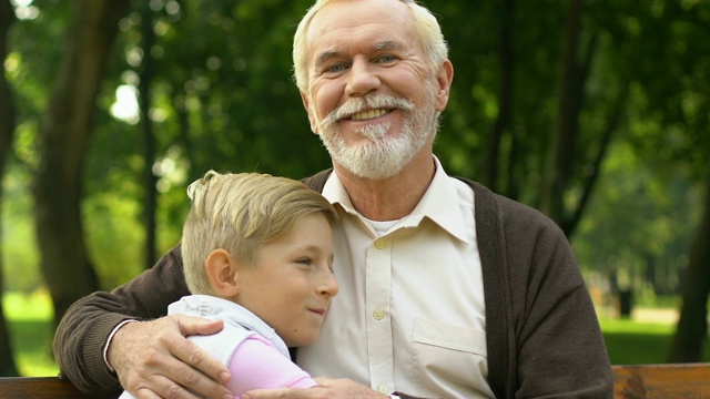
[[[215,327],[211,323],[195,321],[195,319],[159,319],[165,316],[169,304],[187,294],[182,275],[180,247],[175,247],[153,268],[125,285],[111,293],[94,293],[78,300],[62,317],[54,336],[54,356],[61,370],[60,377],[71,380],[84,392],[119,392],[121,390],[119,378],[104,361],[105,344],[121,321],[136,319],[141,323],[126,324],[115,332],[111,345],[112,350],[109,352],[110,361],[115,362],[112,366],[116,368],[124,382],[133,383],[141,379],[142,382],[152,383],[150,378],[131,377],[130,372],[150,372],[155,367],[165,367],[165,364],[166,367],[180,372],[182,361],[186,360],[179,360],[181,356],[190,357],[189,362],[193,365],[195,361],[202,362],[201,369],[205,372],[212,371],[211,375],[216,372],[213,378],[217,379],[226,368],[219,365],[216,360],[203,359],[200,355],[195,355],[200,354],[196,347],[187,339],[180,339],[179,336],[200,331],[214,332],[221,328],[221,325]],[[144,321],[153,319],[158,320]],[[131,366],[130,359],[135,358],[136,354],[141,356],[149,354],[148,359],[145,357],[143,360],[139,359],[144,362],[142,371]],[[170,366],[174,361],[178,362],[178,367]],[[128,369],[131,371],[126,371]],[[204,376],[200,376],[195,383],[203,387],[205,386]],[[175,381],[180,379],[181,376],[173,378]],[[174,383],[165,383],[165,381],[156,383],[168,389],[175,389]],[[220,386],[216,381],[206,385],[212,387],[209,392],[219,391]],[[224,390],[226,391],[225,388]]]

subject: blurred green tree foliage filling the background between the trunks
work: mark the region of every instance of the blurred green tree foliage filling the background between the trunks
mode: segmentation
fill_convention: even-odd
[[[329,166],[311,133],[291,80],[292,35],[311,1],[133,2],[121,21],[93,115],[84,170],[83,223],[102,286],[142,267],[145,196],[142,176],[159,176],[159,253],[180,239],[185,186],[206,170],[304,177]],[[455,66],[450,101],[435,151],[450,174],[481,177],[487,136],[499,113],[499,32],[513,25],[514,110],[500,151],[503,193],[535,205],[558,119],[567,3],[425,2],[439,17]],[[576,236],[582,267],[677,287],[699,215],[698,181],[710,160],[710,2],[586,2],[582,50],[597,39],[580,115],[578,161],[569,203],[595,172],[590,160],[609,119],[622,110],[601,180]],[[39,16],[13,25],[6,74],[14,88],[18,126],[3,176],[2,248],[9,289],[41,287],[30,187],[38,132],[62,54],[71,1],[36,0]],[[148,8],[148,9],[146,9]],[[146,24],[156,35],[144,48]],[[150,121],[112,114],[116,90],[136,88],[145,65],[155,74]],[[158,156],[143,157],[142,124],[154,130]],[[510,178],[509,178],[510,176]],[[59,195],[59,194],[58,194]],[[641,283],[642,285],[646,283]]]

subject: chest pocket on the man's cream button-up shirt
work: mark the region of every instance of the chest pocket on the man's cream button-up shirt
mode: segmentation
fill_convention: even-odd
[[[479,328],[415,319],[412,360],[425,386],[447,386],[457,392],[487,388],[486,332]]]

